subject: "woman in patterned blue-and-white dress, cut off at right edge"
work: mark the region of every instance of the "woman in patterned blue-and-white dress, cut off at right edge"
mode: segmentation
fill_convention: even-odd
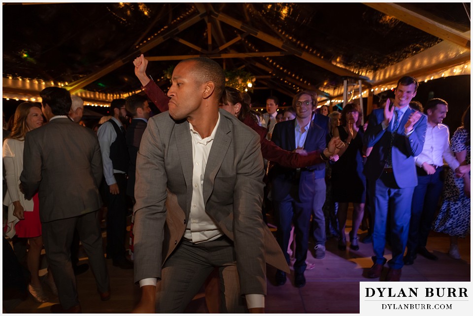
[[[442,206],[433,227],[434,231],[450,235],[448,255],[453,259],[461,259],[458,237],[470,234],[470,107],[463,114],[462,123],[453,134],[451,144],[461,173],[448,170]]]

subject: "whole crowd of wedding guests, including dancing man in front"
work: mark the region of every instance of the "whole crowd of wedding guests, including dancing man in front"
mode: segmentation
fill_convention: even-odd
[[[263,312],[266,263],[277,285],[292,265],[294,285],[304,287],[309,238],[324,259],[331,237],[339,251],[347,241],[358,251],[361,228],[361,242],[373,246],[368,278],[381,277],[386,243],[386,281],[400,281],[418,254],[436,260],[426,249],[430,230],[448,234],[449,256],[461,258],[457,240],[470,234],[470,107],[450,145],[447,102],[411,106],[413,77],[363,124],[359,104],[330,112],[310,90],[285,111],[270,95],[259,114],[207,58],[181,61],[164,93],[147,64],[134,60],[147,96],[113,100],[94,130],[79,124],[80,98],[48,87],[41,105],[20,104],[3,131],[4,240],[28,267],[37,302],[49,300],[38,275],[44,245],[45,282],[60,301],[51,312],[81,311],[74,275],[88,266],[77,264],[79,241],[102,300],[110,298],[105,258],[135,269],[138,313],[182,313],[203,285],[211,312]],[[162,113],[153,115],[148,100]]]

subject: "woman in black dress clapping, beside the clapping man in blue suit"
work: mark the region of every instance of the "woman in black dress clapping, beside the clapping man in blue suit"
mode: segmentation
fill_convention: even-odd
[[[334,200],[338,202],[338,249],[346,249],[345,224],[348,203],[353,203],[353,225],[349,233],[350,248],[358,250],[358,228],[363,219],[366,197],[366,178],[363,174],[363,128],[362,113],[358,104],[349,103],[341,112],[341,124],[334,131],[345,142],[332,169]]]

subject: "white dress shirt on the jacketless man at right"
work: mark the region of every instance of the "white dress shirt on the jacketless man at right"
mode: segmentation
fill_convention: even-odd
[[[422,153],[414,159],[418,167],[422,167],[423,163],[438,167],[443,166],[443,160],[445,160],[452,170],[457,169],[460,163],[455,159],[455,155],[450,150],[448,127],[443,124],[431,126],[427,123]]]

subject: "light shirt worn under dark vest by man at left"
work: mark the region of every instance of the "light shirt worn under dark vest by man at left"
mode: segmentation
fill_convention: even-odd
[[[117,123],[118,127],[123,126],[122,122],[115,117],[112,116],[111,119]],[[117,132],[115,132],[112,123],[103,123],[97,130],[97,138],[99,139],[100,151],[102,154],[103,176],[105,177],[107,185],[112,185],[117,183],[113,173],[126,173],[121,170],[113,169],[113,163],[110,159],[110,146],[117,139]]]

